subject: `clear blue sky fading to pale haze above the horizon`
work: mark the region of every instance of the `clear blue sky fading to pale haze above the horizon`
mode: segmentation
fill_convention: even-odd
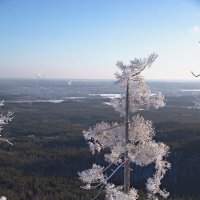
[[[0,78],[114,78],[159,54],[147,79],[200,73],[198,0],[0,0]]]

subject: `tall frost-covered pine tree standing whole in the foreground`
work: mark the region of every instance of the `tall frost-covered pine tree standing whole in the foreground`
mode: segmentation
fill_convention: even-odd
[[[125,93],[121,98],[114,99],[112,105],[124,118],[124,123],[101,122],[83,131],[93,154],[104,149],[109,150],[109,153],[105,154],[108,166],[93,164],[91,169],[80,172],[79,177],[85,183],[84,189],[104,189],[107,200],[138,199],[137,190],[130,188],[131,163],[139,166],[155,163],[155,174],[146,182],[148,199],[157,200],[159,195],[164,198],[169,195],[165,189],[160,189],[161,180],[170,168],[170,163],[165,160],[169,148],[153,139],[153,123],[137,114],[139,109],[158,109],[165,106],[161,93],[152,94],[141,76],[156,58],[157,54],[153,53],[145,59],[135,58],[129,65],[117,62],[120,69],[120,72],[115,74],[117,83],[124,88]],[[109,180],[120,168],[124,169],[124,185],[115,186]]]

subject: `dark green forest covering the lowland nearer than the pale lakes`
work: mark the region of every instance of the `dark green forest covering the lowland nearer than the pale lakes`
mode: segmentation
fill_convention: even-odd
[[[152,120],[156,139],[170,146],[172,169],[163,187],[169,199],[200,199],[200,111],[191,109],[193,97],[169,97],[160,110],[141,111]],[[1,194],[11,200],[89,200],[98,191],[81,189],[77,172],[102,163],[94,157],[82,131],[101,121],[122,120],[108,99],[64,101],[62,103],[6,103],[3,111],[14,119],[3,130],[13,146],[0,145]],[[145,189],[145,179],[153,167],[132,166],[132,184]],[[120,184],[121,171],[113,178]],[[143,193],[142,190],[140,190]],[[141,197],[145,199],[145,196]],[[103,199],[103,194],[98,198]]]

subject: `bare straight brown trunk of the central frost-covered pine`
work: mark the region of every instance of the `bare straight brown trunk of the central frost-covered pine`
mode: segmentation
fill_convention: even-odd
[[[126,87],[126,116],[125,116],[125,142],[126,147],[129,142],[129,83]],[[128,158],[128,150],[125,152],[124,164],[124,193],[127,194],[130,190],[130,159]]]

